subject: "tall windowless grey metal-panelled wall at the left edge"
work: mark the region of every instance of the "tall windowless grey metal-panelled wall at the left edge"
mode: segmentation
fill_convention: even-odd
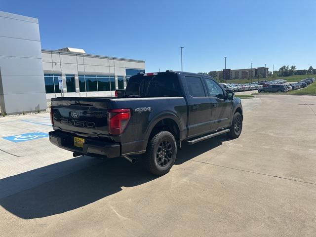
[[[38,20],[0,11],[0,38],[1,112],[45,110]]]

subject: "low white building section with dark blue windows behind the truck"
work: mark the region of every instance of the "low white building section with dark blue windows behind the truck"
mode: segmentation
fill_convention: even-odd
[[[83,49],[42,49],[46,98],[64,96],[114,96],[124,89],[130,76],[145,71],[145,61],[90,55]]]

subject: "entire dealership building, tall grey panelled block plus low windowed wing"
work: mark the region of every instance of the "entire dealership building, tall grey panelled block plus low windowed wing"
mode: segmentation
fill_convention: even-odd
[[[41,49],[36,18],[0,11],[0,112],[46,109],[61,96],[114,96],[145,61],[86,54],[82,49]]]

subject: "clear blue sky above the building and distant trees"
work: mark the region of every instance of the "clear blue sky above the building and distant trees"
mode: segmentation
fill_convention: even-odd
[[[44,49],[141,59],[146,71],[316,68],[316,0],[1,0],[39,18]]]

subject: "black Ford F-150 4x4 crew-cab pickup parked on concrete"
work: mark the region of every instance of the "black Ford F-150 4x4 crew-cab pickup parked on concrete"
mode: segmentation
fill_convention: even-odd
[[[121,92],[121,91],[120,91]],[[213,78],[185,72],[138,74],[118,97],[51,99],[54,131],[49,140],[74,152],[135,162],[156,175],[167,173],[182,142],[242,129],[242,106]]]

